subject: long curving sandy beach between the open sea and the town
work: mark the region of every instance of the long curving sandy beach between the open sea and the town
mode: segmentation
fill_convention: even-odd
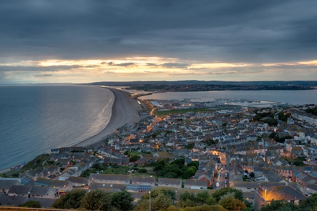
[[[117,128],[127,125],[133,125],[140,120],[139,111],[141,105],[137,100],[131,98],[129,92],[108,88],[114,94],[112,105],[112,115],[108,125],[98,134],[75,144],[74,146],[88,146],[104,140],[111,135]]]

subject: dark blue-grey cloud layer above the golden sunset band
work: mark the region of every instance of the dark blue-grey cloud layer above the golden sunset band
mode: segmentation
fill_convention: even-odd
[[[2,1],[0,58],[312,60],[315,8],[314,0]]]

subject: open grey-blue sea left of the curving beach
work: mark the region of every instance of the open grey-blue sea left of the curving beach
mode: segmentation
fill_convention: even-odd
[[[97,134],[113,100],[109,89],[95,86],[0,86],[0,169]]]

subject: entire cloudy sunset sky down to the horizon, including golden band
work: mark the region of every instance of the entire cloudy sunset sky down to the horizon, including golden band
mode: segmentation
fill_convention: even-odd
[[[0,84],[317,80],[315,0],[0,1]]]

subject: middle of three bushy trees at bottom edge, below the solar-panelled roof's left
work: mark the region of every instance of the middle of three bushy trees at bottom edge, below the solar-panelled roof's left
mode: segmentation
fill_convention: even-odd
[[[111,208],[110,193],[93,190],[82,199],[82,206],[88,210],[109,210]]]

